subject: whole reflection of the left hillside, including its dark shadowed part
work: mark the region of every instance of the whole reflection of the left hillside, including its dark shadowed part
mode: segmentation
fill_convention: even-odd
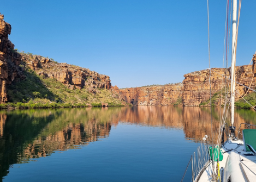
[[[49,109],[0,112],[0,177],[10,165],[87,145],[109,135],[117,110]]]

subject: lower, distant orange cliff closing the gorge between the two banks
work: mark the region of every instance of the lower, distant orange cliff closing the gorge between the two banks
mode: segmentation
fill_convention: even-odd
[[[145,86],[118,90],[133,105],[174,105],[181,103],[183,84]],[[180,102],[178,100],[180,99]]]

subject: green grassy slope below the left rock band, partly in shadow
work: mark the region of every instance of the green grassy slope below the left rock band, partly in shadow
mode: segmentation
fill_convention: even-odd
[[[101,106],[100,103],[118,106],[122,104],[122,101],[115,98],[117,96],[113,95],[110,90],[96,89],[97,93],[93,95],[86,87],[81,90],[70,90],[61,82],[40,77],[29,68],[25,71],[25,75],[26,80],[14,82],[7,87],[9,102],[39,105],[35,107],[47,107],[43,105],[54,105],[53,103],[58,103],[59,106],[86,106],[86,104]]]

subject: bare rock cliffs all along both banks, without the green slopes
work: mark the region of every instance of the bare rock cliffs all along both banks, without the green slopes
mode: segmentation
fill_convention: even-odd
[[[30,67],[41,77],[60,81],[69,89],[82,89],[86,87],[92,94],[97,88],[105,88],[114,93],[112,98],[118,98],[133,105],[183,105],[198,106],[210,98],[209,70],[201,70],[184,75],[180,84],[162,86],[135,87],[118,89],[112,87],[109,76],[90,71],[87,68],[58,63],[40,55],[18,53],[14,44],[8,39],[11,26],[3,20],[0,14],[0,103],[7,102],[7,85],[13,81],[24,80],[25,67]],[[253,57],[253,66],[237,66],[236,80],[241,84],[255,88],[256,55]],[[225,86],[225,79],[220,74],[229,77],[230,69],[212,68],[211,87],[212,95]],[[227,83],[229,81],[227,80]],[[237,85],[237,97],[244,95],[247,89]],[[251,92],[251,91],[248,91]],[[223,100],[216,99],[215,104],[220,105]],[[207,104],[206,104],[207,105]]]

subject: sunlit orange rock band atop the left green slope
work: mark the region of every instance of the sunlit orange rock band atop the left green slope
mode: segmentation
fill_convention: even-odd
[[[21,56],[22,61],[39,76],[56,79],[69,89],[87,87],[91,93],[96,93],[96,88],[111,89],[109,76],[90,71],[88,68],[58,63],[40,55],[21,54]]]

